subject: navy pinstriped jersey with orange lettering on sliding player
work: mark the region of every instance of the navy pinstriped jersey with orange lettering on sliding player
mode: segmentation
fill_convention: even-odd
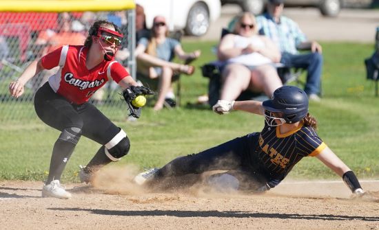
[[[280,134],[280,126],[265,124],[256,157],[267,176],[281,181],[303,157],[314,157],[326,147],[314,128],[301,122],[296,130],[284,134]]]

